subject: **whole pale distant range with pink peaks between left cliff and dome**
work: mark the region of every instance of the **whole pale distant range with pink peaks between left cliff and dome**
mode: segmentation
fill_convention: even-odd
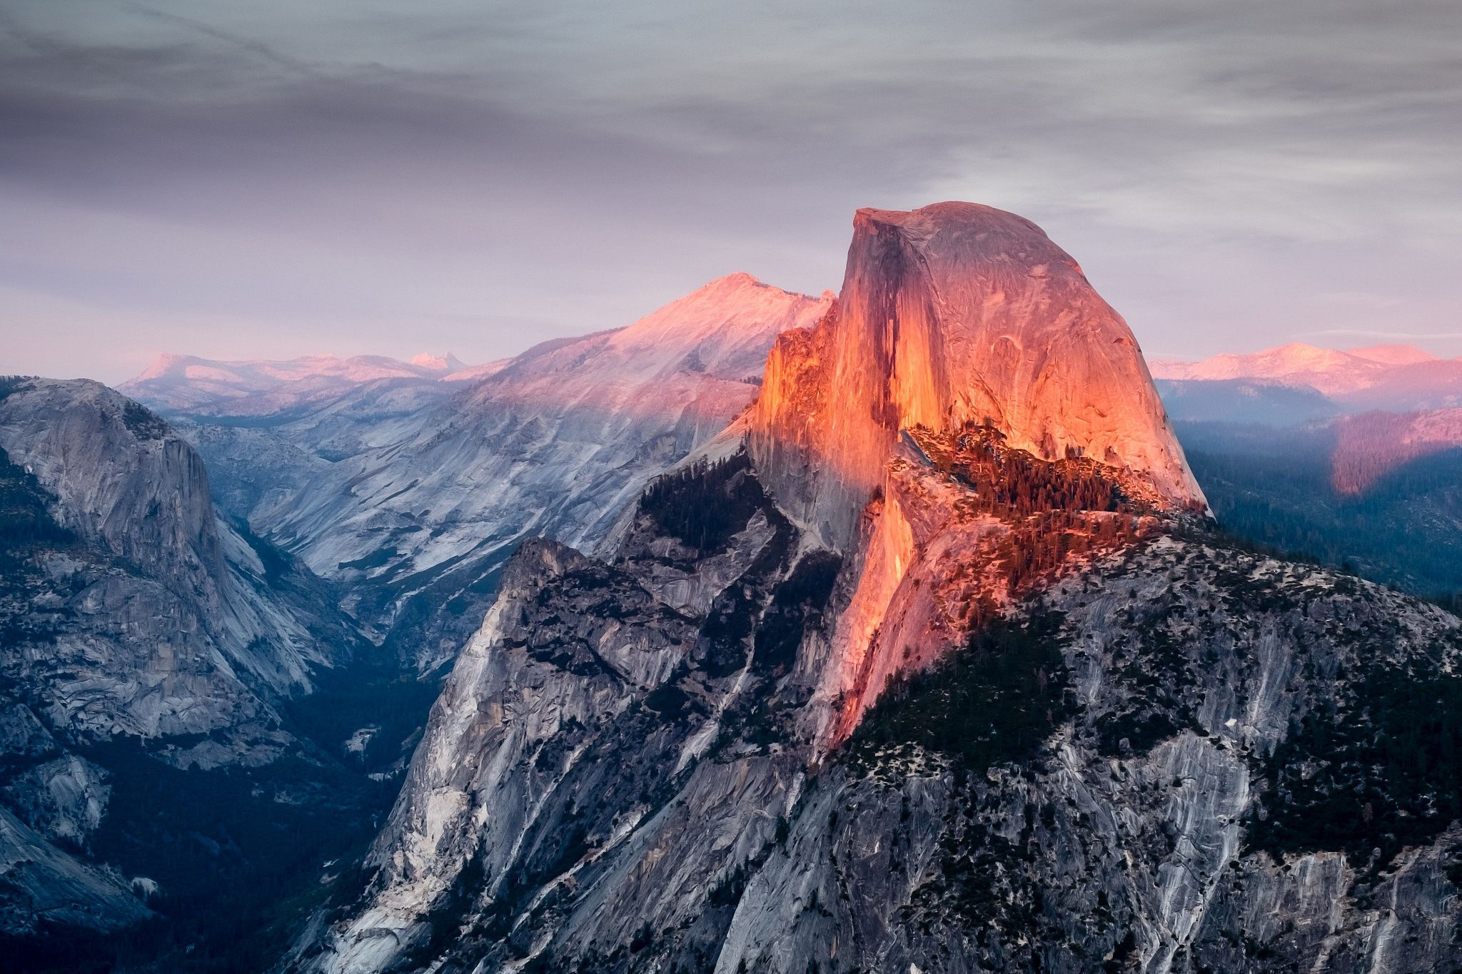
[[[456,369],[373,356],[167,356],[123,386],[208,460],[219,502],[423,670],[481,624],[526,537],[589,548],[645,482],[757,394],[829,308],[730,275],[624,329]]]

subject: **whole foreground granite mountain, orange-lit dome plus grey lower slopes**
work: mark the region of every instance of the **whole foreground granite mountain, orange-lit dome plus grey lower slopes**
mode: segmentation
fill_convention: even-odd
[[[1000,280],[946,264],[936,329],[906,254],[1038,231],[893,216],[599,558],[518,551],[284,970],[1459,962],[1462,624],[1215,533],[1120,320],[1018,331],[1039,367],[940,346]],[[904,295],[877,342],[860,294]]]

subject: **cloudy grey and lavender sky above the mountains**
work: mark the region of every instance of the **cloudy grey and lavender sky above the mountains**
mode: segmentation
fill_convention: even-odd
[[[1455,0],[4,0],[0,372],[482,362],[950,199],[1149,358],[1456,356],[1459,159]]]

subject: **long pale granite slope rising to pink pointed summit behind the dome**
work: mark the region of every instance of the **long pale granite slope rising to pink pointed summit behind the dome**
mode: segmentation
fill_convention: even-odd
[[[304,475],[308,489],[256,507],[253,524],[352,587],[346,607],[431,669],[481,622],[519,543],[598,542],[649,478],[746,409],[776,336],[827,301],[732,275],[627,329],[547,342]]]

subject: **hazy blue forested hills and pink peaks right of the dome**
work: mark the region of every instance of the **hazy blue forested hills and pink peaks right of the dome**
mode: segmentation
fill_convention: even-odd
[[[1412,591],[1462,590],[1462,359],[1285,345],[1149,365],[1227,527]]]

